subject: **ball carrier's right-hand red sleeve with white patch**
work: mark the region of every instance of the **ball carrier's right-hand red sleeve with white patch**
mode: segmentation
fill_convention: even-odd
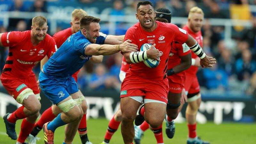
[[[180,44],[184,44],[188,40],[188,32],[184,29],[173,25],[172,27],[175,31],[174,41],[179,42]]]

